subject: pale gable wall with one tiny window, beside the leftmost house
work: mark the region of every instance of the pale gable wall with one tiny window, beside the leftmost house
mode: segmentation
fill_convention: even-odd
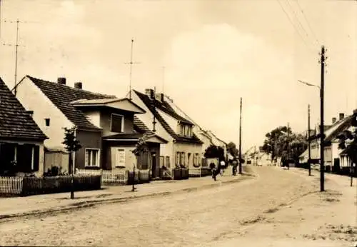
[[[64,139],[64,127],[71,127],[71,122],[62,112],[42,93],[42,91],[27,77],[17,87],[16,98],[27,111],[34,111],[32,118],[49,139],[44,146],[50,149],[64,149],[61,143]],[[50,119],[46,126],[45,119]]]

